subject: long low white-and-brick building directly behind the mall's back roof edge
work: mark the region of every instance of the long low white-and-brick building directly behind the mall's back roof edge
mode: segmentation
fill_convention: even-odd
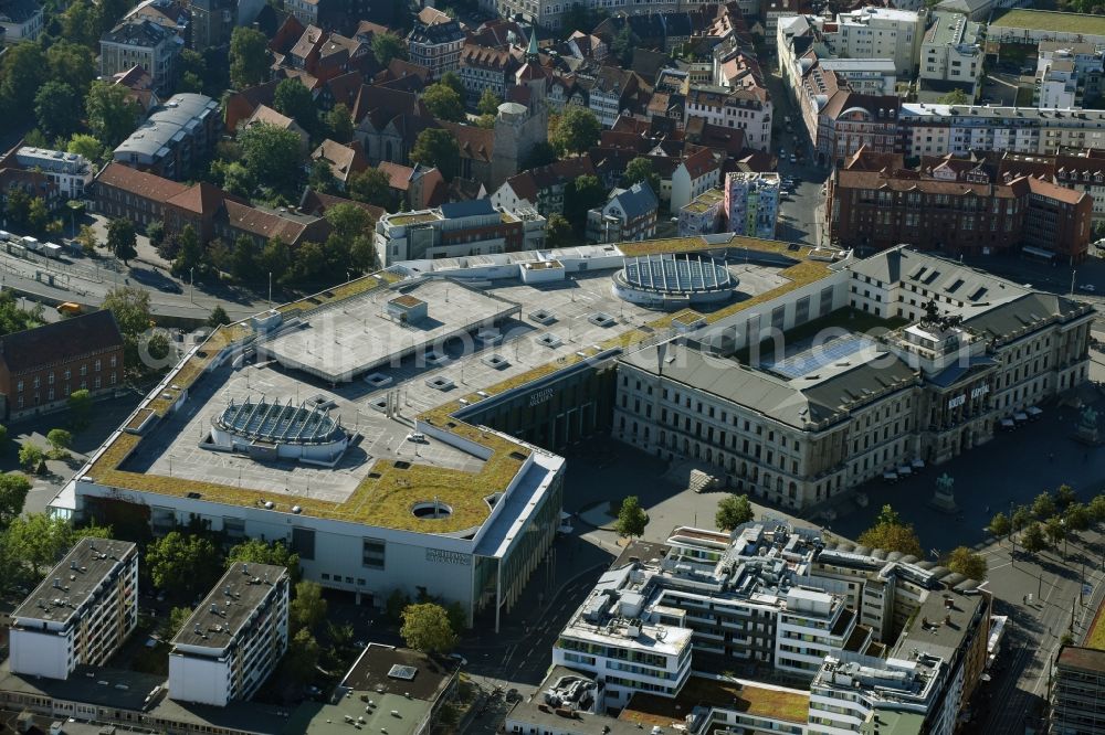
[[[487,199],[453,202],[381,217],[373,243],[385,266],[401,260],[535,251],[545,244],[545,217],[534,210],[497,209]]]

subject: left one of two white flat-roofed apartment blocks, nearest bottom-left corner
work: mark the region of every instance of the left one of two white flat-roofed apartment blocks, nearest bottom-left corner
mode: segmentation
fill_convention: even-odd
[[[66,679],[103,664],[138,625],[138,550],[82,539],[11,615],[11,670]]]

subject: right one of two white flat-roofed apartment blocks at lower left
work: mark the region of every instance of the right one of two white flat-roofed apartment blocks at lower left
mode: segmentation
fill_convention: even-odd
[[[248,700],[287,651],[288,573],[234,562],[172,639],[169,696],[225,706]]]

